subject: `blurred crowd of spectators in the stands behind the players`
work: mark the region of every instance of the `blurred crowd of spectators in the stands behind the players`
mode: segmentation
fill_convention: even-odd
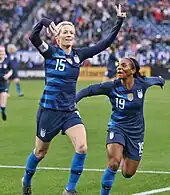
[[[115,2],[121,3],[128,13],[114,42],[116,56],[141,55],[147,57],[147,62],[141,60],[141,65],[168,65],[168,0],[1,0],[0,44],[13,42],[19,50],[33,51],[34,47],[28,39],[31,29],[42,17],[49,17],[56,23],[72,21],[76,26],[76,46],[90,46],[106,37],[115,24]],[[27,28],[23,28],[23,24]],[[45,30],[42,32],[42,39],[53,42]],[[159,59],[153,59],[158,56]]]

